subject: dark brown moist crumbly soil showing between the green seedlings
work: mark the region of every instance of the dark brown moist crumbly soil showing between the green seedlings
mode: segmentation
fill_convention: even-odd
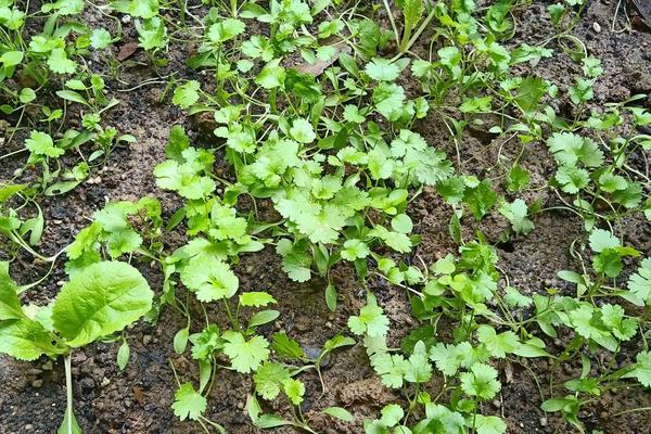
[[[627,23],[624,9],[614,17],[616,1],[593,0],[584,13],[574,34],[585,41],[588,52],[600,58],[604,75],[595,88],[595,104],[620,102],[637,93],[651,93],[651,34],[643,28],[620,31]],[[539,43],[554,35],[545,12],[549,2],[535,1],[515,14],[516,34],[509,42],[516,44]],[[34,5],[36,9],[37,5]],[[87,11],[85,20],[89,26],[111,26],[110,22]],[[611,25],[614,23],[614,31]],[[124,25],[123,40],[112,48],[117,55],[122,44],[133,42],[136,31],[132,23]],[[561,89],[571,85],[571,73],[579,67],[556,42],[557,55],[545,60],[534,68],[523,73],[534,73],[556,82]],[[178,47],[177,47],[178,48]],[[126,49],[125,49],[126,50]],[[188,48],[183,47],[187,51]],[[119,65],[120,81],[111,78],[106,55],[93,54],[92,67],[106,78],[111,93],[120,100],[120,104],[104,115],[106,125],[113,125],[120,133],[130,133],[138,141],[129,146],[116,149],[105,164],[92,175],[92,183],[85,182],[72,192],[44,199],[41,207],[46,217],[46,231],[38,248],[53,254],[67,245],[74,235],[88,225],[92,213],[102,208],[106,201],[138,200],[152,195],[162,201],[164,216],[169,217],[181,206],[174,194],[161,191],[154,183],[152,170],[165,159],[164,146],[171,125],[180,124],[191,135],[195,145],[209,144],[209,135],[201,119],[189,118],[169,103],[165,94],[166,80],[156,79],[176,72],[180,77],[199,79],[202,88],[210,89],[209,77],[192,72],[184,65],[189,56],[180,48],[173,46],[168,52],[169,64],[158,67],[157,72],[148,66],[148,58],[137,51]],[[418,48],[417,48],[418,50]],[[152,84],[146,84],[153,79]],[[409,84],[404,84],[409,90]],[[413,86],[413,85],[412,85]],[[132,90],[128,90],[135,88]],[[125,91],[128,90],[128,91]],[[651,107],[651,102],[643,102]],[[567,101],[559,99],[552,102],[557,113],[570,117],[572,108]],[[78,117],[78,116],[77,116]],[[71,118],[75,118],[74,115]],[[10,119],[11,122],[12,119]],[[15,122],[15,119],[13,119]],[[499,180],[505,176],[505,158],[512,158],[520,152],[519,146],[495,140],[494,137],[474,127],[467,131],[462,140],[455,145],[448,131],[434,115],[417,126],[430,143],[445,150],[456,162],[460,171],[488,177],[494,187],[500,188]],[[17,149],[22,143],[20,135],[9,144],[7,152]],[[4,152],[4,151],[3,151]],[[460,161],[456,155],[460,155]],[[648,155],[649,156],[649,155]],[[0,179],[11,178],[11,174],[24,161],[2,161]],[[556,169],[544,144],[532,143],[525,150],[521,164],[532,174],[532,188],[524,193],[528,203],[540,200],[545,207],[558,205],[559,197],[545,189],[546,180]],[[643,162],[640,164],[644,164]],[[642,166],[643,167],[643,166]],[[647,167],[648,169],[648,167]],[[29,175],[26,175],[27,177]],[[506,191],[500,193],[507,194]],[[511,197],[512,199],[512,197]],[[448,234],[450,218],[449,206],[431,189],[413,201],[409,208],[416,232],[422,237],[422,243],[409,260],[433,260],[455,253],[457,245]],[[578,269],[579,264],[571,254],[573,240],[582,234],[582,221],[570,213],[545,212],[537,214],[536,229],[526,237],[501,242],[507,222],[499,215],[487,217],[478,227],[467,222],[463,227],[464,239],[481,230],[486,238],[498,246],[499,267],[510,281],[502,283],[519,288],[527,294],[544,293],[548,288],[565,289],[556,277],[561,269]],[[643,253],[651,252],[651,230],[648,222],[628,219],[623,229],[626,242]],[[167,248],[175,248],[184,241],[182,230],[167,235]],[[0,256],[2,254],[0,245]],[[59,264],[61,265],[61,264]],[[137,264],[148,278],[152,288],[161,289],[159,270],[150,264]],[[31,291],[25,302],[44,302],[53,297],[65,275],[58,267],[51,278],[41,284],[38,291]],[[42,264],[35,263],[30,256],[21,256],[12,266],[14,277],[20,283],[38,279],[46,271]],[[358,283],[352,267],[339,266],[334,272],[334,283],[340,292],[340,305],[331,312],[323,299],[326,283],[318,279],[297,284],[288,279],[281,270],[281,263],[273,250],[242,257],[235,267],[242,291],[267,291],[279,302],[279,319],[261,329],[269,336],[284,331],[297,340],[307,352],[318,352],[323,342],[340,331],[346,330],[346,319],[365,304],[365,289]],[[371,290],[391,319],[390,344],[397,345],[399,340],[418,327],[410,316],[407,295],[383,280],[371,281]],[[194,306],[199,310],[199,306]],[[208,310],[210,318],[225,324],[226,318],[219,309]],[[176,380],[170,362],[179,380],[190,381],[197,378],[195,363],[187,355],[177,355],[173,350],[173,337],[184,326],[184,319],[173,309],[165,309],[157,324],[139,323],[128,330],[131,357],[128,367],[119,371],[116,366],[117,345],[95,343],[75,350],[73,356],[74,399],[79,424],[85,433],[199,433],[201,427],[188,422],[179,422],[174,417],[170,405],[174,400]],[[201,324],[194,324],[197,331]],[[444,331],[443,333],[448,333]],[[563,339],[550,342],[550,349],[562,349]],[[630,343],[623,348],[616,362],[626,365],[639,350],[638,344]],[[508,423],[509,433],[573,433],[575,429],[566,424],[558,414],[545,414],[540,410],[540,392],[549,391],[548,379],[554,371],[556,383],[576,375],[579,366],[553,367],[544,360],[527,360],[526,365],[500,365],[502,381],[501,394],[485,404],[485,412],[499,413]],[[369,366],[361,343],[333,354],[322,370],[326,388],[322,391],[318,376],[306,373],[301,378],[306,383],[306,399],[303,411],[312,429],[319,433],[362,433],[365,419],[375,418],[380,409],[388,403],[404,401],[399,392],[383,387],[379,378]],[[540,383],[540,390],[537,386]],[[65,407],[65,380],[63,361],[50,361],[46,358],[35,362],[20,362],[0,356],[0,433],[54,433],[63,418]],[[430,385],[435,393],[439,390],[438,380]],[[220,370],[212,396],[208,400],[206,417],[222,424],[228,433],[259,433],[246,416],[245,403],[253,391],[248,376],[228,370]],[[339,423],[323,417],[319,409],[341,406],[355,416],[354,423]],[[611,434],[651,433],[651,418],[648,412],[633,412],[615,416],[617,412],[651,406],[651,394],[639,388],[608,392],[579,414],[587,432],[601,430]],[[268,408],[283,413],[282,404],[271,403]],[[293,433],[293,429],[279,429],[279,433]]]

